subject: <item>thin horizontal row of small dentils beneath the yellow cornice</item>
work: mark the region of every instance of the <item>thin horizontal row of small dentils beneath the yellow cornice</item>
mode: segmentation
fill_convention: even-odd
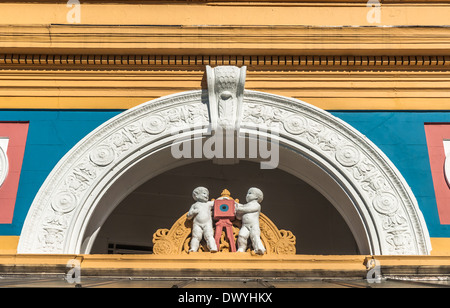
[[[133,67],[201,68],[205,65],[237,65],[251,68],[285,69],[450,69],[450,56],[394,55],[394,56],[351,56],[351,55],[51,55],[51,54],[0,54],[0,69],[18,68],[97,68],[120,69]]]

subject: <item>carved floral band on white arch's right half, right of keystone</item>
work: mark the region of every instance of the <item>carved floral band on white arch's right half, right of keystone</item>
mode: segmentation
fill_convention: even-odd
[[[378,232],[382,233],[380,237],[385,241],[382,246],[386,247],[387,254],[404,255],[415,251],[414,232],[408,224],[418,227],[422,222],[414,216],[408,217],[415,211],[414,199],[401,195],[398,189],[403,184],[398,177],[387,176],[393,170],[389,170],[386,158],[377,157],[379,153],[373,149],[367,151],[370,145],[363,144],[363,140],[354,142],[354,133],[345,126],[337,129],[330,118],[289,111],[283,108],[285,102],[261,99],[258,93],[247,93],[246,100],[258,103],[244,105],[243,127],[263,125],[271,130],[284,130],[314,151],[326,154],[341,172],[351,178],[353,185],[358,186],[359,193],[365,195],[372,218],[382,226]],[[385,161],[384,164],[376,162],[380,159]]]

